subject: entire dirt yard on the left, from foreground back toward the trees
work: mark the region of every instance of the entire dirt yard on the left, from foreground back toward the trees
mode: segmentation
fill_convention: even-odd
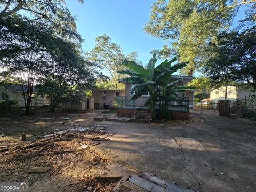
[[[53,131],[70,127],[90,127],[102,111],[90,113],[43,113],[33,116],[1,117],[0,182],[26,182],[30,191],[111,191],[118,180],[96,181],[93,175],[111,163],[93,149],[82,149],[85,132],[66,132],[25,149]],[[68,117],[67,121],[63,118]],[[27,133],[27,141],[19,138]],[[95,133],[93,133],[95,134]],[[97,133],[96,133],[97,134]],[[33,136],[35,135],[35,136]],[[41,134],[42,135],[42,134]],[[50,167],[46,173],[28,173],[32,167]]]

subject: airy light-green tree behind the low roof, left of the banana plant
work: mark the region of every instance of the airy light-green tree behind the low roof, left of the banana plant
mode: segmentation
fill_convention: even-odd
[[[110,81],[106,87],[120,89],[123,84],[118,82],[123,75],[117,73],[118,70],[124,69],[122,61],[129,59],[135,61],[137,58],[136,52],[132,52],[125,56],[121,47],[117,43],[111,42],[111,38],[106,34],[95,38],[95,46],[90,53],[86,53],[86,58],[94,63],[97,63],[100,69],[106,69],[110,75]]]

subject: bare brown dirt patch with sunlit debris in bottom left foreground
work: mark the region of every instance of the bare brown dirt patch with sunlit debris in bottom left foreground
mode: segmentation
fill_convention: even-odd
[[[0,182],[26,182],[31,191],[111,191],[118,181],[96,181],[94,173],[111,163],[87,147],[86,135],[73,132],[27,148],[11,146],[0,153]],[[50,167],[29,173],[33,167]]]

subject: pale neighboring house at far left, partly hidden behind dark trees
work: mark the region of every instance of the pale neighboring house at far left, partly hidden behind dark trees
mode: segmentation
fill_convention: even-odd
[[[34,88],[34,91],[36,89]],[[6,86],[0,85],[0,100],[17,100],[18,107],[24,106],[24,99],[21,94],[21,87],[19,84],[7,84]],[[42,98],[38,95],[37,98],[34,98],[31,101],[30,106],[43,106],[43,105],[50,105],[49,99]]]

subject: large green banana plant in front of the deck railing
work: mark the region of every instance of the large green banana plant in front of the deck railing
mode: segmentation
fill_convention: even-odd
[[[132,84],[136,84],[132,91],[134,92],[131,100],[136,100],[143,94],[148,93],[149,98],[145,103],[145,106],[150,107],[151,120],[155,122],[157,119],[164,119],[170,121],[170,114],[167,103],[169,101],[181,102],[177,97],[177,92],[185,92],[193,87],[188,86],[175,86],[177,81],[170,82],[171,75],[179,69],[187,66],[189,62],[181,62],[172,66],[173,62],[177,61],[177,58],[173,58],[168,61],[167,59],[160,65],[155,67],[157,59],[153,54],[150,59],[147,68],[138,65],[134,61],[123,61],[123,65],[127,66],[129,70],[120,70],[118,73],[127,74],[130,77],[126,77],[123,80]],[[159,113],[157,113],[157,104],[159,103]]]

